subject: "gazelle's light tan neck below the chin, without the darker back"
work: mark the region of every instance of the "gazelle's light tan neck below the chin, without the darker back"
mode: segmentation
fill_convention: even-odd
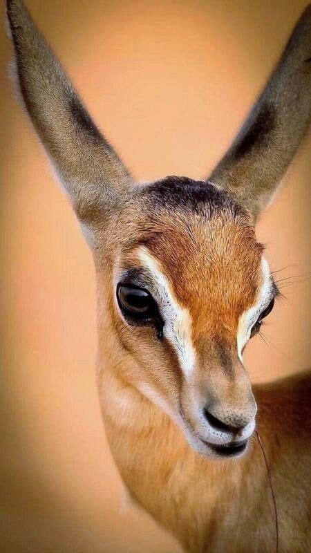
[[[100,374],[100,395],[109,444],[126,487],[186,550],[204,552],[208,543],[214,551],[211,544],[221,532],[223,550],[235,551],[232,532],[227,541],[224,528],[241,524],[243,517],[249,523],[256,496],[260,500],[263,491],[271,544],[273,512],[255,439],[243,458],[209,460],[191,449],[168,415],[106,367]]]

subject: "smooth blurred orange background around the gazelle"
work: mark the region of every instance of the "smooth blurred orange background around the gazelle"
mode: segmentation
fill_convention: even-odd
[[[209,174],[303,0],[28,0],[139,180]],[[1,31],[0,549],[177,553],[122,482],[95,388],[93,261],[8,80]],[[285,294],[245,355],[254,382],[310,364],[310,139],[258,225]],[[293,277],[293,278],[292,278]]]

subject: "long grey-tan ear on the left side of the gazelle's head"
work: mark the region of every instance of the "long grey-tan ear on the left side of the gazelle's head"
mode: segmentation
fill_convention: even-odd
[[[7,10],[26,109],[77,216],[91,223],[131,191],[131,176],[91,120],[23,3],[8,0]]]

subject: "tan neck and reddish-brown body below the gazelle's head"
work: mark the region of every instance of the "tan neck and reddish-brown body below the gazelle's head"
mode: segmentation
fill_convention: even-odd
[[[128,363],[125,358],[124,364]],[[126,486],[185,550],[274,551],[270,487],[254,438],[248,455],[238,461],[204,459],[194,453],[180,429],[160,409],[135,388],[126,386],[109,367],[100,375],[100,390],[106,432]],[[258,428],[272,467],[280,517],[279,550],[307,553],[310,375],[261,386],[254,392],[259,404]],[[131,422],[120,421],[116,400],[123,395],[129,402]]]

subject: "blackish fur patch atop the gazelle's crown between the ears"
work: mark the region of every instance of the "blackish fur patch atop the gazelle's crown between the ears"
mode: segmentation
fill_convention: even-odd
[[[232,215],[243,212],[226,191],[218,189],[211,182],[193,180],[188,177],[169,176],[153,182],[147,189],[148,198],[154,207],[164,207],[173,212],[186,209],[196,214],[213,214],[229,210]]]

